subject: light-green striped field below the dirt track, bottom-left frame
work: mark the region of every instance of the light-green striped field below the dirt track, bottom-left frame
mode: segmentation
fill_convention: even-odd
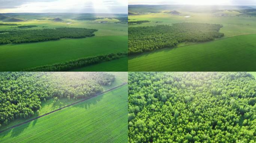
[[[128,142],[128,86],[0,134],[1,143]]]

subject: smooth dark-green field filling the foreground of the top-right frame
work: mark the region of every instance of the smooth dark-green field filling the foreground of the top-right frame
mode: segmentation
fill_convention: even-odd
[[[128,70],[255,71],[255,39],[241,35],[129,57]]]

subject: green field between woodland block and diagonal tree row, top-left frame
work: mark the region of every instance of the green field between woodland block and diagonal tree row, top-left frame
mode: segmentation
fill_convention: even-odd
[[[19,71],[83,57],[127,52],[127,36],[95,36],[81,39],[0,45],[0,71]],[[104,71],[105,69],[102,69]]]

